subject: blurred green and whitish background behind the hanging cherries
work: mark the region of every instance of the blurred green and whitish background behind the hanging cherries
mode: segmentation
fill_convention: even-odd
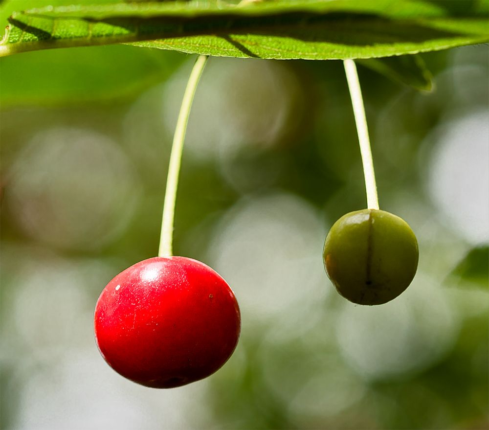
[[[210,378],[124,380],[98,295],[155,256],[195,56],[111,45],[1,68],[2,429],[488,429],[488,48],[424,54],[436,90],[359,66],[382,209],[420,244],[409,289],[347,302],[322,263],[365,207],[340,61],[211,58],[190,116],[175,253],[229,282],[243,330]]]

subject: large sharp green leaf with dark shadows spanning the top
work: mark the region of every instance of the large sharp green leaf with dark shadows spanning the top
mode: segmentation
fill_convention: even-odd
[[[487,0],[486,0],[487,1]],[[483,8],[415,0],[119,1],[14,13],[0,56],[133,43],[215,56],[377,58],[484,43]]]

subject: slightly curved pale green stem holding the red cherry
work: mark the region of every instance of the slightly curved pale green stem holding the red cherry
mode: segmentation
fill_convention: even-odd
[[[166,180],[165,202],[163,204],[163,216],[161,220],[161,235],[159,239],[158,256],[169,257],[173,255],[173,225],[175,219],[175,202],[177,200],[178,175],[183,151],[183,141],[187,131],[190,108],[194,100],[197,84],[207,62],[206,55],[199,55],[192,72],[188,78],[187,88],[183,94],[180,112],[178,113],[177,127],[173,136],[170,164],[168,165],[168,177]]]

